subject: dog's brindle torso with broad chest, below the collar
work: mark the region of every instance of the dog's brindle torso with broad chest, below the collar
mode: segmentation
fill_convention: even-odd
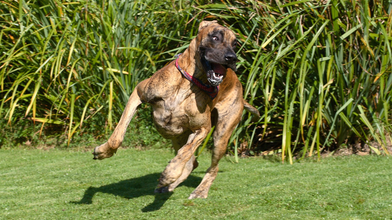
[[[230,99],[242,100],[242,86],[234,71],[229,70],[214,99],[188,81],[174,61],[154,73],[146,84],[141,99],[151,104],[153,122],[166,139],[175,138],[188,129],[211,127],[211,111],[216,104]],[[228,96],[228,91],[231,96]]]

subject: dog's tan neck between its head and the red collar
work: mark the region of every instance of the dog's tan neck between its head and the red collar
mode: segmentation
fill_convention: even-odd
[[[207,79],[207,74],[201,65],[200,54],[197,52],[197,45],[195,38],[190,42],[189,47],[179,57],[178,65],[189,75],[196,77],[204,84],[209,85],[210,82]]]

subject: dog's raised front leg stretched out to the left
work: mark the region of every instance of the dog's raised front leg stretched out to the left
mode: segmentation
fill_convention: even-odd
[[[137,107],[142,103],[140,99],[140,93],[144,88],[145,84],[147,83],[147,80],[148,79],[139,83],[132,92],[131,96],[128,99],[128,103],[125,106],[119,124],[116,126],[109,140],[105,144],[94,148],[94,152],[92,153],[94,155],[94,160],[102,160],[111,157],[117,152],[117,149],[120,147],[121,143],[124,140],[125,132],[127,131],[127,127],[131,122],[131,119],[135,114]]]

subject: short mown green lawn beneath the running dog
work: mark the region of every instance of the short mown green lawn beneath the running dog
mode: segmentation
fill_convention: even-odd
[[[168,149],[90,152],[0,150],[0,219],[391,219],[388,157],[324,158],[294,165],[221,160],[207,199],[188,200],[210,163],[174,193],[154,194]]]

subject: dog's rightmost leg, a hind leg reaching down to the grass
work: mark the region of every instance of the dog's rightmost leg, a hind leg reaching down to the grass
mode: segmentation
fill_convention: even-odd
[[[241,103],[242,104],[242,103]],[[225,155],[227,144],[235,127],[238,125],[242,114],[242,105],[228,105],[230,108],[218,110],[218,122],[214,131],[214,149],[212,154],[211,166],[208,168],[200,185],[194,189],[188,199],[207,198],[208,191],[218,174],[219,160]],[[217,107],[217,106],[216,106]],[[218,106],[219,107],[219,106]],[[229,110],[228,110],[229,109]]]

